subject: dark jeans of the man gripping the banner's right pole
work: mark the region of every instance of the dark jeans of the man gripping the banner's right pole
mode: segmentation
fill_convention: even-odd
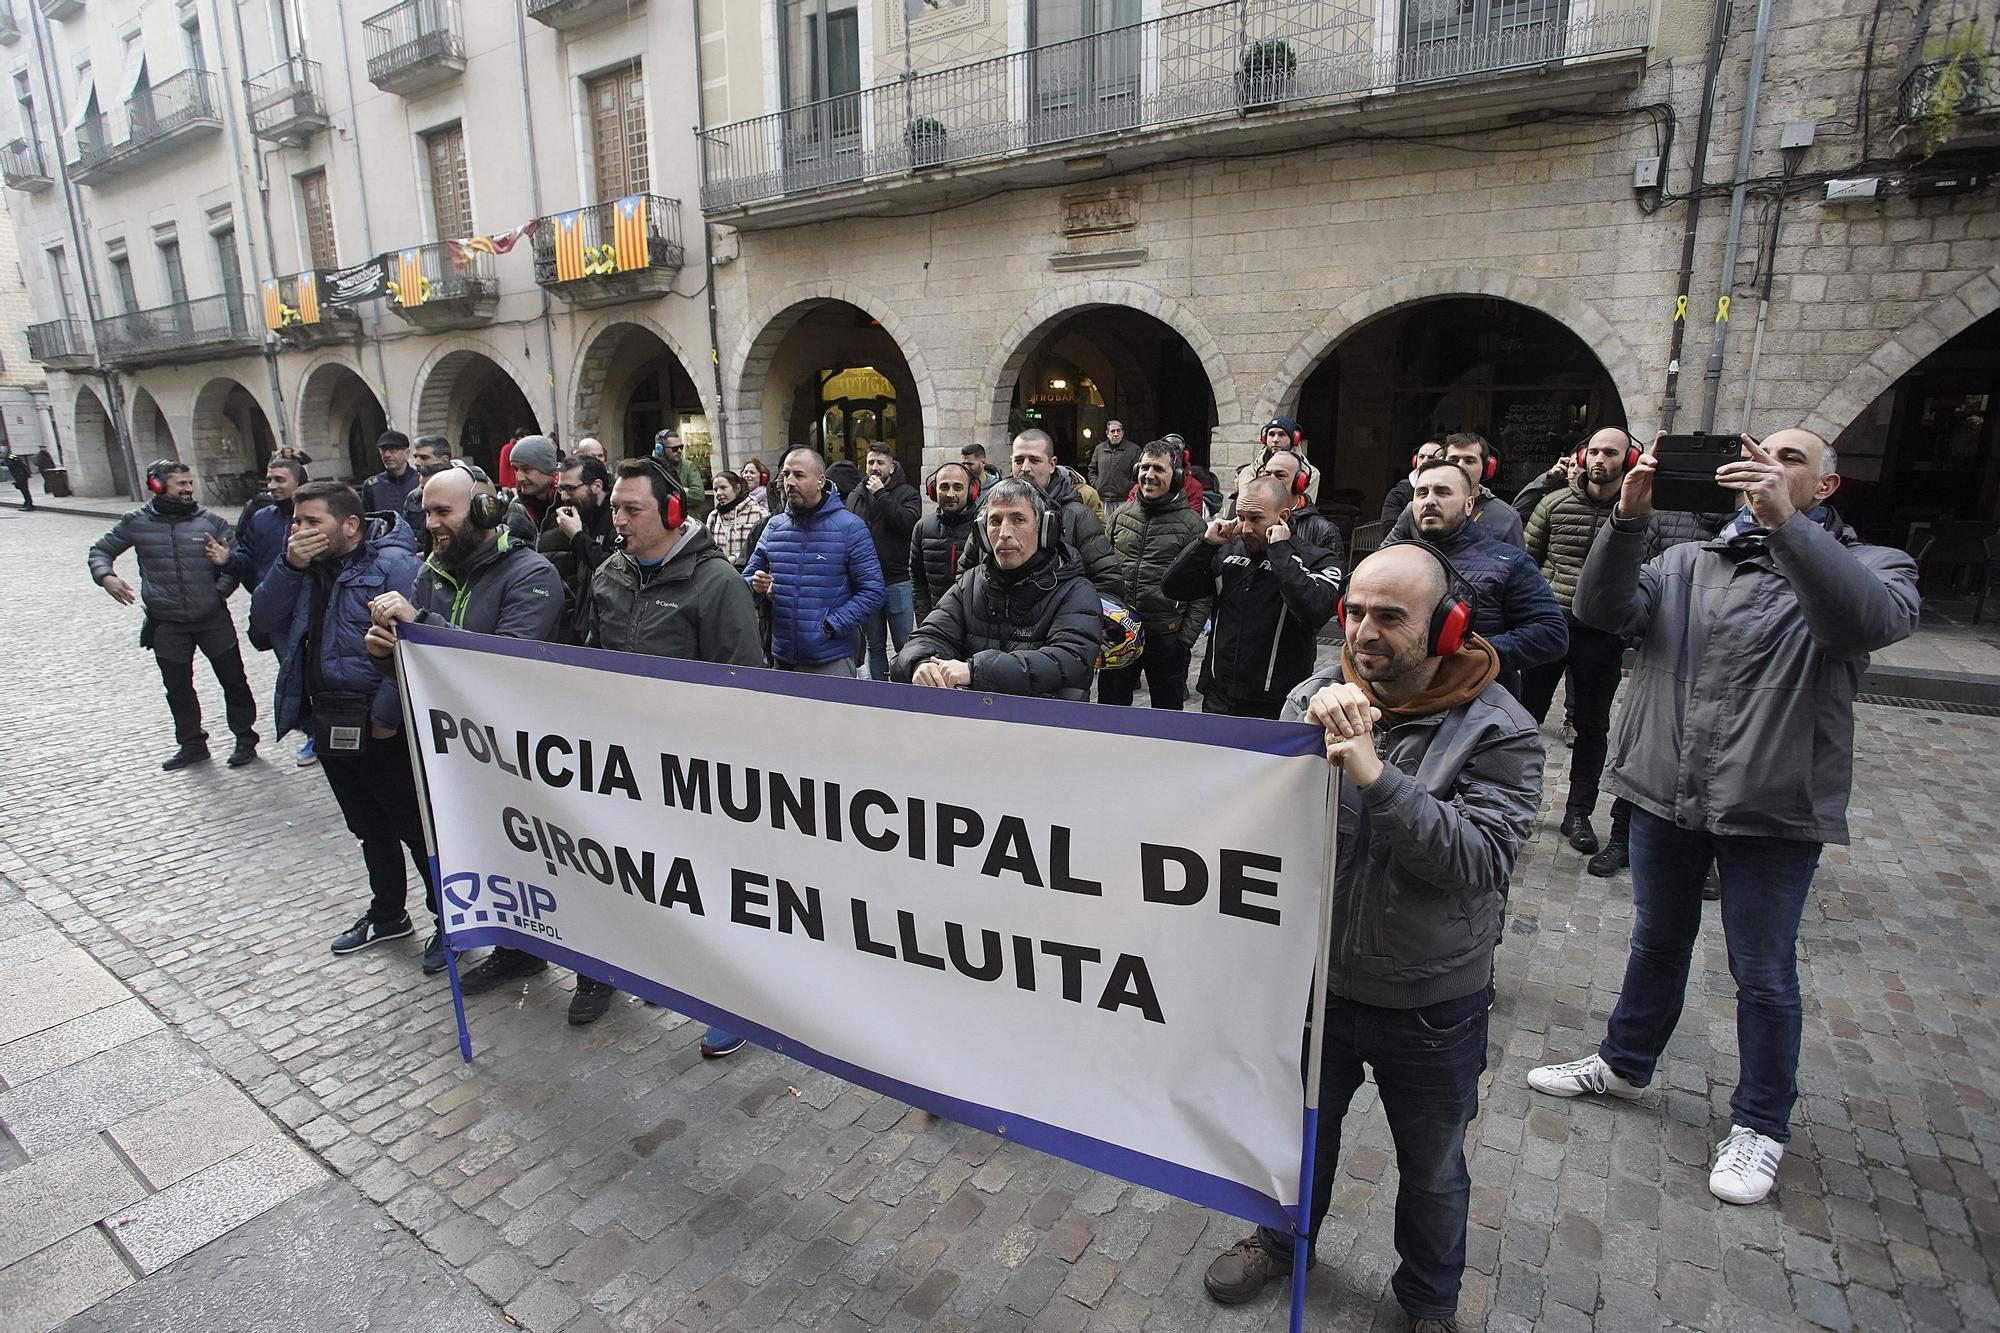
[[[1486,1011],[1492,987],[1422,1009],[1326,1003],[1320,1067],[1320,1135],[1312,1167],[1312,1235],[1334,1201],[1340,1121],[1374,1067],[1390,1137],[1396,1139],[1396,1303],[1412,1319],[1450,1319],[1466,1273],[1466,1125],[1480,1109],[1486,1071]],[[1288,1269],[1292,1237],[1258,1229],[1264,1253]]]

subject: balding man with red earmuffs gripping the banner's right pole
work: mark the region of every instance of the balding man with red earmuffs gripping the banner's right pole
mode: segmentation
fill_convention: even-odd
[[[1340,664],[1284,709],[1326,731],[1342,771],[1308,1267],[1340,1121],[1372,1067],[1402,1175],[1390,1289],[1418,1333],[1458,1327],[1492,955],[1542,797],[1540,733],[1494,685],[1500,656],[1470,632],[1472,600],[1436,548],[1384,546],[1348,584]],[[1208,1295],[1250,1301],[1292,1275],[1292,1247],[1260,1227],[1208,1265]]]

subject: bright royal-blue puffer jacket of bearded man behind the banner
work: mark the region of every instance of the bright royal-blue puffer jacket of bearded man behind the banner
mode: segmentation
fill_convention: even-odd
[[[854,656],[862,620],[882,606],[882,560],[860,514],[826,488],[808,514],[784,508],[764,524],[764,536],[744,564],[744,578],[768,568],[770,654],[794,666],[818,666]]]

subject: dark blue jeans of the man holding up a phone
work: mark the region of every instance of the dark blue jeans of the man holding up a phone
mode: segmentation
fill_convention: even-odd
[[[1798,1101],[1798,921],[1820,865],[1818,843],[1718,837],[1634,809],[1632,953],[1598,1055],[1628,1083],[1652,1081],[1688,993],[1710,861],[1722,875],[1722,939],[1736,979],[1730,1119],[1790,1143]]]

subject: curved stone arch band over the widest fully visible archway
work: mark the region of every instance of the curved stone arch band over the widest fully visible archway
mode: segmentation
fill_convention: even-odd
[[[1326,354],[1370,320],[1390,310],[1430,300],[1448,300],[1452,296],[1494,296],[1540,310],[1552,320],[1566,324],[1596,354],[1626,404],[1640,404],[1652,398],[1642,378],[1640,360],[1626,346],[1624,338],[1618,336],[1618,330],[1560,282],[1500,272],[1496,268],[1430,268],[1390,278],[1340,302],[1332,314],[1292,344],[1292,352],[1258,396],[1252,416],[1262,422],[1272,416],[1292,414],[1298,408],[1298,392],[1320,362],[1326,360]],[[1650,424],[1634,418],[1632,428],[1644,432]]]

